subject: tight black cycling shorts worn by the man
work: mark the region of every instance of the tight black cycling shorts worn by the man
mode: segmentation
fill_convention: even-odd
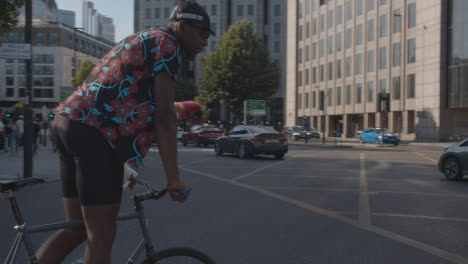
[[[63,197],[79,197],[83,206],[120,203],[124,162],[100,131],[57,113],[51,132]]]

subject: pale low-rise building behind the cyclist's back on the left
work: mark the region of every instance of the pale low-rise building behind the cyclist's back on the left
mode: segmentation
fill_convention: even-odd
[[[58,22],[33,21],[33,110],[52,110],[75,88],[81,64],[97,63],[114,45]],[[24,43],[24,24],[0,36],[0,43]],[[0,59],[0,112],[24,101],[25,62]]]

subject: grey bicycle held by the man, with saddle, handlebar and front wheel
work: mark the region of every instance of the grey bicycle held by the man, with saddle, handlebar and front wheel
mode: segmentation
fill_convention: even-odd
[[[59,230],[64,228],[72,228],[77,226],[84,226],[84,222],[81,220],[74,220],[68,222],[58,222],[50,223],[36,226],[28,226],[25,224],[22,214],[19,210],[18,203],[14,195],[14,191],[32,184],[44,183],[43,179],[38,178],[28,178],[21,180],[8,180],[0,181],[0,198],[7,199],[10,203],[10,207],[13,211],[15,217],[16,226],[14,229],[18,232],[16,239],[13,242],[13,245],[8,252],[5,264],[16,263],[16,258],[18,256],[18,249],[21,244],[24,246],[29,263],[38,264],[37,258],[35,256],[35,251],[32,247],[32,242],[30,240],[30,234],[48,232],[52,230]],[[154,249],[152,239],[149,234],[149,229],[146,221],[146,217],[143,211],[142,202],[146,200],[158,200],[161,199],[166,193],[166,189],[160,191],[152,189],[146,182],[136,177],[131,177],[128,182],[131,187],[135,184],[140,184],[144,186],[146,192],[132,195],[132,201],[134,205],[135,212],[127,214],[119,214],[117,216],[117,221],[125,221],[131,219],[137,219],[141,227],[143,239],[138,244],[136,249],[133,251],[131,256],[128,258],[127,263],[133,264],[140,257],[143,250],[145,250],[145,259],[141,262],[142,264],[164,264],[164,263],[204,263],[204,264],[215,264],[215,261],[207,256],[205,253],[193,249],[193,248],[168,248],[160,251]],[[187,194],[188,195],[188,194]],[[180,259],[181,257],[182,259]]]

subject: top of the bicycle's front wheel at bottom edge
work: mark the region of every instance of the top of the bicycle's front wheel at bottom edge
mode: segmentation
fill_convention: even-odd
[[[205,253],[193,248],[168,248],[156,253],[153,261],[143,264],[216,264]]]

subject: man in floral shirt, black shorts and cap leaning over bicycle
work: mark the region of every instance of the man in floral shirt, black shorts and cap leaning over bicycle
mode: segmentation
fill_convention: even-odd
[[[182,52],[195,56],[214,32],[205,10],[178,4],[165,29],[121,41],[57,107],[52,137],[59,153],[67,220],[86,228],[55,233],[37,252],[40,264],[61,263],[87,240],[85,263],[108,264],[120,208],[124,163],[138,167],[157,135],[171,198],[188,188],[177,167],[175,80]]]

